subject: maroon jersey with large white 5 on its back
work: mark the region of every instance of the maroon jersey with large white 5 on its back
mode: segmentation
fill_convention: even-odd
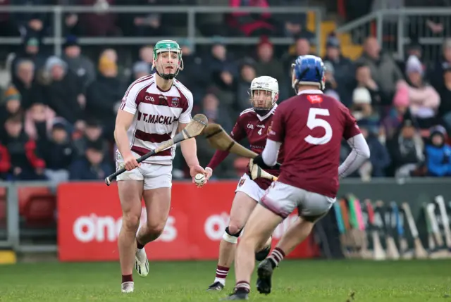
[[[350,111],[320,91],[305,91],[283,101],[268,139],[284,146],[279,181],[335,198],[342,137],[360,133]]]

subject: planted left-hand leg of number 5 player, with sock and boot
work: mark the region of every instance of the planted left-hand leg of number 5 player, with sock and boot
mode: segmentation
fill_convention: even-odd
[[[258,204],[246,224],[235,258],[236,284],[233,294],[225,300],[247,300],[254,270],[254,253],[271,236],[283,218]]]

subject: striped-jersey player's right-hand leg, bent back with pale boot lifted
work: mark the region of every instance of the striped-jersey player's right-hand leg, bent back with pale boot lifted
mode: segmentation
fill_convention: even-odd
[[[144,190],[147,222],[142,225],[136,236],[135,269],[141,277],[149,274],[149,260],[147,260],[144,246],[156,240],[163,232],[171,208],[171,188]]]

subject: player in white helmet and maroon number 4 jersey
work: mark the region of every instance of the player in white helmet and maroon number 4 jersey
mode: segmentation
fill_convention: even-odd
[[[274,112],[277,108],[278,100],[278,82],[273,77],[262,76],[252,80],[249,89],[252,108],[242,111],[230,136],[236,141],[240,141],[247,137],[250,149],[255,153],[261,153],[266,144],[266,137],[273,119]],[[209,165],[205,168],[207,179],[219,163],[228,156],[227,151],[216,151]],[[283,161],[283,152],[278,156],[279,162]],[[278,168],[266,169],[266,172],[272,175],[279,175]],[[257,202],[264,194],[264,190],[269,187],[271,180],[261,177],[252,179],[249,167],[247,172],[242,175],[240,182],[235,190],[235,199],[233,199],[232,208],[230,210],[230,222],[223,234],[223,239],[219,246],[219,259],[216,268],[216,278],[213,284],[208,288],[210,291],[221,291],[226,284],[228,270],[233,262],[235,255],[235,246],[238,237],[250,213],[257,205]],[[266,237],[266,241],[257,248],[255,258],[259,261],[264,260],[271,248],[271,236]]]

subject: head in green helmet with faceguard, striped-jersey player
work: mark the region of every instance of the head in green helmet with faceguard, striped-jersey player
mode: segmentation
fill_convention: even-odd
[[[172,80],[183,70],[182,49],[177,42],[162,40],[154,46],[152,70],[165,80]]]

